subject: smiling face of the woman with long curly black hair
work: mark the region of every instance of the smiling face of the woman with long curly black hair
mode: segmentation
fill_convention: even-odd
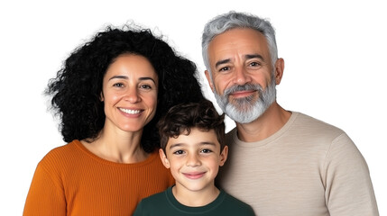
[[[134,54],[115,58],[102,84],[105,128],[143,130],[156,112],[158,86],[158,76],[147,58]]]

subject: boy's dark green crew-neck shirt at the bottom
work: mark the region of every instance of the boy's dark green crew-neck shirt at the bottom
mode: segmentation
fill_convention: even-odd
[[[173,216],[173,215],[255,215],[250,205],[237,200],[235,197],[221,190],[217,199],[205,206],[189,207],[181,204],[173,196],[172,188],[166,191],[156,193],[150,197],[144,198],[134,211],[134,216]]]

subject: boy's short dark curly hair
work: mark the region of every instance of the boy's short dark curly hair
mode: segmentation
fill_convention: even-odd
[[[161,148],[165,152],[168,139],[181,134],[189,135],[192,128],[208,131],[215,130],[220,150],[226,145],[225,113],[219,115],[213,103],[204,99],[198,103],[180,103],[170,108],[157,123],[161,137]]]

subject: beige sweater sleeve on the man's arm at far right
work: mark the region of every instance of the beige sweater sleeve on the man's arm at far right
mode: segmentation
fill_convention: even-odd
[[[327,153],[326,203],[331,216],[379,215],[368,166],[345,133]]]

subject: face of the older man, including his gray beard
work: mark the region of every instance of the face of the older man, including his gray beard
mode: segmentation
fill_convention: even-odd
[[[261,32],[244,28],[217,35],[208,46],[208,57],[208,83],[220,108],[234,121],[252,122],[275,101],[275,68]]]

